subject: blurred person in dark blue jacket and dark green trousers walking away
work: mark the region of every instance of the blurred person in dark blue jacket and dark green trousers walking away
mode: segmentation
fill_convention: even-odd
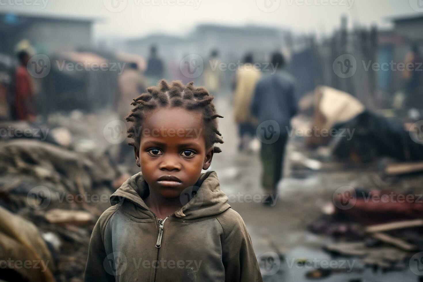
[[[257,117],[261,129],[258,130],[261,142],[262,186],[269,193],[267,205],[274,205],[277,194],[277,183],[283,172],[283,160],[290,120],[297,113],[295,82],[283,70],[285,60],[280,52],[272,55],[272,68],[275,74],[267,74],[261,78],[254,90],[251,113]],[[278,126],[276,126],[276,123]],[[277,129],[279,127],[279,129]],[[271,132],[270,132],[271,131]],[[278,138],[274,140],[276,137]],[[270,139],[269,139],[270,137]],[[267,140],[269,142],[263,142]]]

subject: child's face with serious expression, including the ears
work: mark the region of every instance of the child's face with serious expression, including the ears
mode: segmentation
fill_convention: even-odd
[[[179,197],[208,169],[213,146],[206,149],[200,111],[159,108],[143,121],[137,165],[150,189],[166,198]]]

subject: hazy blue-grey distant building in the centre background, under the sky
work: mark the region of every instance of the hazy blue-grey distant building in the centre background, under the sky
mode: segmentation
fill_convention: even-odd
[[[154,34],[127,40],[125,49],[148,58],[150,47],[157,46],[157,55],[165,62],[165,77],[184,80],[179,63],[185,56],[198,54],[206,64],[211,51],[216,50],[218,59],[228,64],[242,60],[247,52],[253,52],[255,60],[264,62],[269,60],[271,52],[286,47],[290,38],[290,32],[271,27],[198,25],[186,36]],[[225,76],[226,85],[232,74]]]

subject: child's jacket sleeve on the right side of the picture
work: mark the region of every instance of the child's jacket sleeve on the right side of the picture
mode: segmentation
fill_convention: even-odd
[[[241,216],[231,208],[230,216],[218,219],[223,228],[222,262],[225,281],[262,282],[257,257],[247,227]]]

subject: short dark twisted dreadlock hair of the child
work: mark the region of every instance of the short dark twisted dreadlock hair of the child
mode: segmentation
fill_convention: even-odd
[[[181,81],[176,80],[168,84],[165,79],[160,80],[157,86],[147,88],[147,93],[142,93],[133,99],[131,105],[134,108],[126,117],[126,121],[132,122],[132,126],[128,129],[128,137],[133,141],[128,145],[138,148],[141,142],[140,130],[145,113],[158,107],[183,107],[187,110],[201,110],[203,114],[203,136],[206,140],[206,148],[210,148],[215,143],[223,143],[222,134],[220,134],[217,126],[216,118],[223,118],[218,115],[210,95],[206,88],[195,87],[194,82],[183,85]],[[136,134],[138,132],[138,134]],[[214,146],[214,153],[220,153],[219,147]]]

